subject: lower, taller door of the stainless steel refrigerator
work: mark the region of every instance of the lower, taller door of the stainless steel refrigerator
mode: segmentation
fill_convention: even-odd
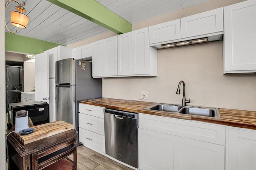
[[[56,85],[56,121],[72,123],[76,127],[76,86]]]

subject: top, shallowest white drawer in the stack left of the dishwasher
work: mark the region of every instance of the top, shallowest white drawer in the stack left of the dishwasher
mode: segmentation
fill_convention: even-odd
[[[88,104],[78,104],[78,112],[95,117],[104,118],[104,107],[92,106]]]

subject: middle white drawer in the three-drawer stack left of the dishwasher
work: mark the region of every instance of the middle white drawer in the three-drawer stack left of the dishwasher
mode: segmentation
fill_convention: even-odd
[[[104,119],[78,113],[79,127],[104,135]]]

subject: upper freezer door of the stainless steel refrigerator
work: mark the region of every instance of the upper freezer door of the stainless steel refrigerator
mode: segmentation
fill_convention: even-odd
[[[76,60],[56,61],[56,84],[76,84]]]

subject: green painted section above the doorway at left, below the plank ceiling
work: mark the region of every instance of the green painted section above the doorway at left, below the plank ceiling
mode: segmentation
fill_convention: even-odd
[[[61,44],[5,32],[5,51],[40,54]],[[64,45],[65,46],[65,45]]]

